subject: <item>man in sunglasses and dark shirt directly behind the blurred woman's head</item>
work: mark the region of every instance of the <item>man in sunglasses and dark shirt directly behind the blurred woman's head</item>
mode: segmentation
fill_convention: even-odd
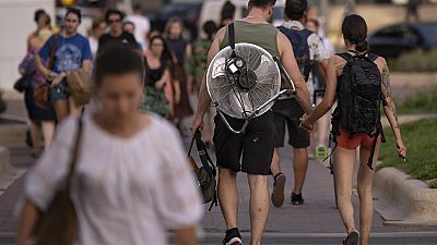
[[[106,24],[109,26],[109,33],[104,34],[98,39],[98,51],[101,53],[105,48],[113,45],[125,44],[132,49],[140,50],[140,46],[131,33],[125,32],[122,28],[122,21],[125,14],[116,9],[109,9],[105,13]]]

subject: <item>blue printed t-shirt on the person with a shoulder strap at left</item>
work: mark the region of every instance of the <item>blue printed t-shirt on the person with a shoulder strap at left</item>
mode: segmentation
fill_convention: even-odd
[[[54,36],[51,36],[39,50],[39,57],[48,62]],[[75,71],[82,68],[84,60],[92,60],[88,40],[76,34],[64,38],[58,35],[52,71],[56,73]]]

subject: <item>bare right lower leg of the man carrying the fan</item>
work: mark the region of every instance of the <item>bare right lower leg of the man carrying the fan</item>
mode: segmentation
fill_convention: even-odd
[[[250,245],[260,245],[270,207],[267,175],[248,174],[247,176],[250,187]]]

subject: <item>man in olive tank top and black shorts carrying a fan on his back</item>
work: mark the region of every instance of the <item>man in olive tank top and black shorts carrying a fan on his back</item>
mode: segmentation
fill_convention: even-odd
[[[248,16],[234,22],[235,42],[253,44],[268,50],[272,56],[279,57],[295,83],[297,101],[309,113],[311,103],[308,88],[298,72],[292,45],[285,35],[268,22],[272,16],[274,4],[274,0],[249,0]],[[208,63],[210,64],[214,56],[228,45],[227,27],[221,28],[210,48]],[[198,110],[191,125],[192,132],[202,128],[204,114],[211,103],[204,75]],[[245,122],[245,120],[227,118],[235,125],[243,125]],[[227,229],[223,244],[241,244],[237,223],[239,197],[236,183],[237,173],[241,171],[247,174],[250,187],[251,234],[249,244],[259,245],[270,209],[268,175],[273,156],[273,113],[268,111],[257,120],[250,121],[245,134],[232,133],[218,115],[214,118],[214,122],[213,142],[218,166],[218,200]],[[262,140],[253,140],[253,137]]]

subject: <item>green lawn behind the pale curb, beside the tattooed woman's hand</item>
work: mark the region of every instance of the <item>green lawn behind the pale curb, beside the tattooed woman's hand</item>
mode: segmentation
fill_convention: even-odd
[[[401,130],[408,148],[406,162],[398,158],[393,134],[386,128],[387,143],[381,145],[379,154],[383,163],[378,168],[394,167],[423,181],[437,179],[437,119],[402,124]],[[437,188],[437,181],[428,186]]]

